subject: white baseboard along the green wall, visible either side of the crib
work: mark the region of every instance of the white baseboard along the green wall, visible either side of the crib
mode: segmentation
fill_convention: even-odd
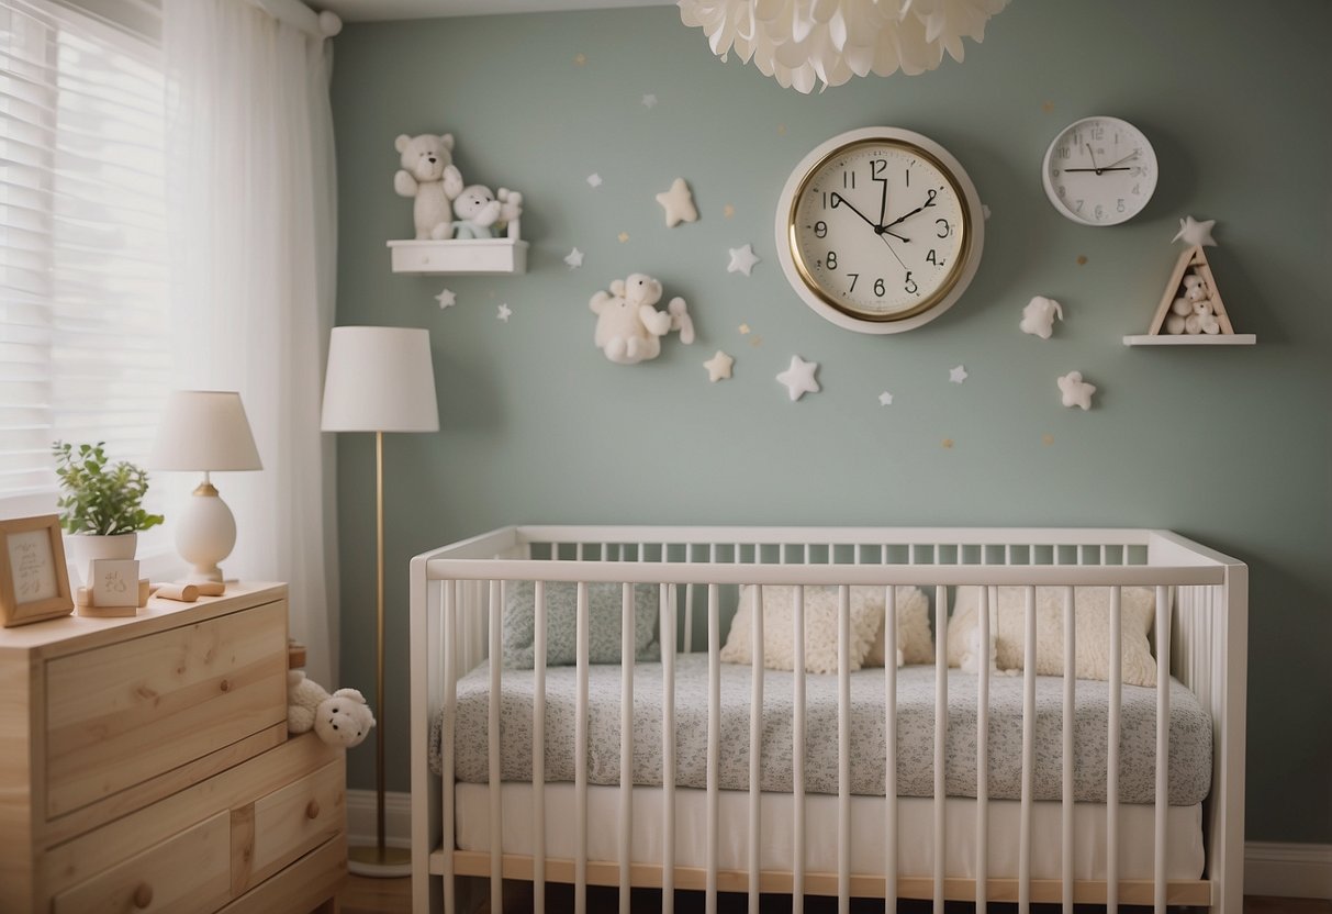
[[[348,838],[376,839],[374,791],[346,791]],[[412,846],[412,795],[384,795],[385,842]],[[1244,845],[1244,894],[1279,898],[1332,898],[1332,845],[1249,841]]]

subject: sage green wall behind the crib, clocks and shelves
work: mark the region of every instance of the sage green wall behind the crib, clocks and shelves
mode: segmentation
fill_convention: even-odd
[[[1276,9],[1022,0],[964,64],[813,96],[718,61],[674,8],[349,25],[338,322],[430,328],[444,426],[385,448],[389,789],[408,789],[406,562],[428,548],[513,522],[1163,526],[1252,569],[1248,835],[1332,841],[1332,5]],[[1156,197],[1118,228],[1074,225],[1040,187],[1047,144],[1092,113],[1136,123],[1160,160]],[[795,163],[874,124],[942,143],[992,211],[962,301],[890,337],[801,304],[773,241]],[[389,272],[385,240],[412,229],[393,139],[441,129],[469,181],[526,193],[525,276]],[[701,220],[666,229],[653,197],[677,176]],[[1122,345],[1152,317],[1184,215],[1220,220],[1208,256],[1257,346]],[[746,242],[763,258],[750,278],[726,272]],[[587,300],[635,270],[689,300],[699,341],[629,368],[593,348]],[[445,286],[458,304],[441,310]],[[1050,341],[1018,330],[1034,294],[1064,305]],[[711,385],[718,348],[735,377]],[[793,353],[823,385],[798,404],[774,380]],[[1059,402],[1072,369],[1100,388],[1088,413]],[[341,436],[338,460],[340,685],[370,691],[370,436]],[[372,786],[369,746],[350,765]]]

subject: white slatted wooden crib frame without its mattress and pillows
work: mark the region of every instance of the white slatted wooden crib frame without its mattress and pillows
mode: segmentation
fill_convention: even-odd
[[[490,666],[489,711],[489,807],[490,849],[485,854],[453,851],[454,781],[452,746],[457,713],[457,680],[486,656],[501,650],[500,632],[505,581],[535,582],[535,650],[542,661],[533,670],[534,773],[530,859],[505,854],[502,778],[500,769],[500,694],[502,670]],[[547,585],[575,582],[577,588],[577,709],[574,763],[574,859],[546,854],[545,817],[545,699]],[[621,759],[619,802],[615,827],[622,853],[617,861],[591,861],[589,841],[589,594],[594,582],[622,586]],[[655,585],[655,612],[662,648],[662,850],[654,865],[631,857],[634,834],[634,626],[635,585]],[[746,863],[738,870],[718,866],[721,789],[721,668],[722,597],[726,588],[753,585],[753,666],[750,678],[749,821]],[[882,874],[851,871],[851,775],[850,751],[850,589],[882,588],[886,602],[884,654],[884,822]],[[932,877],[900,877],[899,806],[894,789],[898,751],[896,588],[916,585],[934,593],[936,610],[935,751]],[[946,871],[947,830],[947,727],[948,674],[946,608],[948,588],[980,585],[979,644],[988,642],[991,606],[998,586],[1024,588],[1026,654],[1022,682],[1022,786],[1018,827],[1016,878],[992,878],[988,871],[988,705],[990,678],[976,684],[976,814],[974,878]],[[793,795],[794,862],[790,871],[762,869],[765,826],[785,827],[765,819],[762,794],[763,706],[763,588],[794,586],[793,641],[797,673],[793,676]],[[807,797],[805,793],[803,745],[807,734],[806,677],[803,672],[806,589],[836,586],[838,594],[838,851],[835,873],[809,873],[806,867]],[[1060,878],[1032,879],[1032,777],[1036,721],[1036,588],[1059,588],[1063,596],[1064,682],[1060,726],[1062,762],[1062,862]],[[1106,871],[1099,882],[1076,881],[1074,846],[1072,729],[1078,684],[1072,676],[1076,657],[1074,620],[1078,612],[1075,586],[1111,588],[1110,709],[1107,723],[1107,815]],[[1119,733],[1122,727],[1122,588],[1155,588],[1156,766],[1155,766],[1155,878],[1122,882],[1119,871]],[[706,653],[709,657],[709,717],[706,767],[706,866],[702,870],[675,866],[681,839],[675,819],[675,654],[693,648],[695,590],[706,594]],[[506,528],[461,544],[418,556],[412,562],[412,705],[413,705],[413,905],[416,910],[460,910],[454,875],[488,875],[490,901],[498,910],[503,901],[502,878],[533,881],[534,910],[543,910],[547,881],[574,885],[575,910],[587,910],[589,885],[619,887],[619,909],[629,910],[633,885],[662,887],[661,907],[673,910],[675,889],[702,889],[706,910],[717,910],[718,891],[747,891],[749,907],[758,910],[761,891],[793,893],[793,909],[802,910],[806,893],[835,894],[839,911],[848,910],[852,895],[880,895],[884,910],[895,910],[898,897],[932,898],[935,911],[946,899],[974,898],[978,911],[987,901],[1015,901],[1019,910],[1034,902],[1062,902],[1071,911],[1075,902],[1107,905],[1152,903],[1209,905],[1215,911],[1237,914],[1241,907],[1243,849],[1243,739],[1245,686],[1247,569],[1232,558],[1192,544],[1176,534],[1156,530],[966,530],[966,529],[806,529],[806,528]],[[1169,682],[1175,676],[1191,687],[1213,717],[1213,789],[1204,805],[1207,873],[1203,882],[1167,879]],[[429,721],[442,714],[442,778],[429,773]],[[513,818],[513,817],[510,817]]]

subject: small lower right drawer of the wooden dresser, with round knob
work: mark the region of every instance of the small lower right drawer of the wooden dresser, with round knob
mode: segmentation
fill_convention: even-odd
[[[334,762],[254,801],[250,885],[262,882],[344,830],[345,781],[344,766]]]

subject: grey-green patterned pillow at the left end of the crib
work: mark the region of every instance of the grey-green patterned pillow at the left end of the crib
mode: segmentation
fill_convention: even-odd
[[[503,665],[530,670],[535,660],[537,585],[533,581],[506,581],[503,608]],[[657,644],[657,588],[634,585],[634,660],[661,660]],[[619,664],[623,585],[587,585],[587,662]],[[546,666],[573,666],[578,662],[578,585],[567,581],[546,584]]]

